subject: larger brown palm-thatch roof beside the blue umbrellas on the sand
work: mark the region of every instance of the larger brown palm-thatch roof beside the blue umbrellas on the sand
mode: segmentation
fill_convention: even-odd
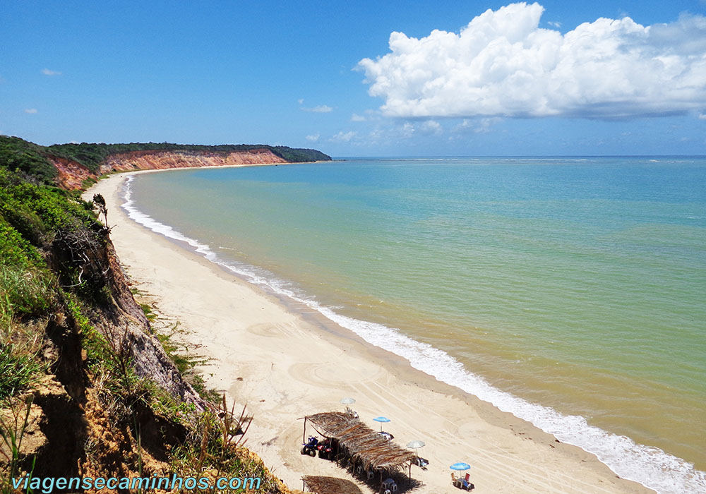
[[[304,419],[321,435],[337,440],[366,469],[397,470],[416,456],[383,438],[349,412],[329,411]]]

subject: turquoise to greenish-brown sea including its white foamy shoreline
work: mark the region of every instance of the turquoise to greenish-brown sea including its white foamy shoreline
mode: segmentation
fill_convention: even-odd
[[[130,188],[138,221],[621,476],[706,491],[706,159],[349,159]]]

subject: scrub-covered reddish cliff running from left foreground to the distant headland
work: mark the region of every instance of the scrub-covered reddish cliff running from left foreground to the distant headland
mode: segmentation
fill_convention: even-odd
[[[0,492],[24,475],[228,474],[289,493],[242,447],[252,417],[233,414],[191,372],[196,357],[152,327],[97,218],[107,215],[102,197],[78,194],[113,171],[289,159],[261,146],[90,146],[51,150],[0,136]]]

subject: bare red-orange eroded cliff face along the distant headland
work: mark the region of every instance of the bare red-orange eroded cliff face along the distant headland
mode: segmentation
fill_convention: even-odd
[[[162,170],[171,168],[222,167],[238,164],[287,163],[267,149],[235,152],[133,151],[111,155],[96,173],[70,159],[49,157],[59,172],[61,188],[76,190],[86,179],[97,179],[113,171]]]

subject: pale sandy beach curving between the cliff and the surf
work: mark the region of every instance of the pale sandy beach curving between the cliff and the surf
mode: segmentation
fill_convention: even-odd
[[[210,359],[201,369],[208,385],[248,405],[255,418],[246,446],[290,488],[301,488],[306,474],[353,480],[335,463],[299,453],[300,418],[342,411],[339,400],[353,397],[352,408],[372,428],[376,416],[391,419],[385,430],[397,444],[426,442],[419,454],[430,464],[426,471],[412,467],[412,478],[421,481],[415,493],[457,492],[449,469],[455,462],[471,465],[479,494],[653,492],[133,222],[120,207],[126,176],[109,176],[85,196],[104,196],[112,241],[134,286],[154,300],[163,320],[179,323],[195,353]]]

